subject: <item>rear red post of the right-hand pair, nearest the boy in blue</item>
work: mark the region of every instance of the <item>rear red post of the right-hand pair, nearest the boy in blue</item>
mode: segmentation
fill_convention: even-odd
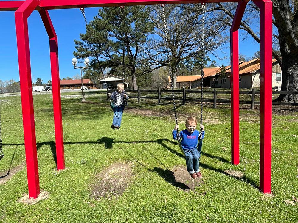
[[[232,164],[239,164],[239,47],[238,29],[247,2],[238,3],[230,30],[231,39],[231,143]]]

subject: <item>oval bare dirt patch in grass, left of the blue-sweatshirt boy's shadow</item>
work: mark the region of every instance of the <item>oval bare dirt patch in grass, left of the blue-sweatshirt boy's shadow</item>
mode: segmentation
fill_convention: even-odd
[[[117,197],[123,194],[132,177],[129,163],[117,163],[107,167],[96,176],[96,184],[92,186],[92,197]]]

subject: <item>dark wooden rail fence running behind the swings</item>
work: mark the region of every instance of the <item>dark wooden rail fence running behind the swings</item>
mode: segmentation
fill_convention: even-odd
[[[171,90],[164,90],[164,89],[151,89],[151,90],[147,90],[147,89],[138,89],[138,90],[126,90],[125,92],[138,92],[138,96],[129,96],[130,98],[137,98],[138,102],[140,102],[141,98],[144,99],[157,99],[158,103],[160,103],[161,100],[173,100],[172,97],[161,97],[161,93],[162,92],[167,92],[167,93],[171,93]],[[156,92],[157,93],[157,97],[152,97],[152,96],[142,96],[141,93],[143,92]],[[201,99],[193,99],[193,98],[187,98],[186,97],[186,93],[197,93],[197,94],[201,94],[201,90],[190,90],[190,89],[183,89],[183,90],[174,90],[174,93],[183,93],[183,97],[182,98],[176,98],[175,100],[177,101],[183,101],[183,104],[185,104],[187,101],[194,101],[194,102],[201,102]],[[231,104],[231,100],[218,100],[217,99],[217,95],[218,94],[231,94],[230,91],[218,91],[216,89],[212,90],[212,91],[203,91],[204,95],[207,94],[212,94],[213,95],[213,100],[212,99],[203,99],[203,102],[209,102],[209,103],[213,103],[213,108],[216,108],[216,103],[226,103],[226,104]],[[239,94],[251,94],[251,100],[250,101],[239,101],[239,104],[250,104],[251,105],[251,109],[254,109],[254,105],[256,104],[260,104],[259,101],[255,101],[255,95],[256,94],[260,94],[260,91],[256,91],[255,89],[251,89],[249,91],[239,91]],[[272,91],[272,94],[278,94],[278,95],[292,95],[295,94],[297,95],[298,92],[294,91],[294,92],[289,92],[289,91]],[[272,102],[272,105],[292,105],[292,106],[298,106],[298,103],[291,103],[291,102]]]

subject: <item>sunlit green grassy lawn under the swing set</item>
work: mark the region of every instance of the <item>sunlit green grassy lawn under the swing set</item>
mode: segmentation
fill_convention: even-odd
[[[171,169],[185,165],[172,139],[175,121],[170,101],[158,105],[156,100],[130,100],[120,130],[113,131],[105,94],[86,96],[93,103],[81,103],[79,92],[61,96],[66,170],[57,172],[52,97],[34,95],[40,187],[49,198],[35,205],[17,202],[28,193],[24,168],[0,185],[0,222],[297,222],[298,206],[283,200],[298,197],[298,112],[273,113],[274,196],[265,196],[257,189],[259,111],[240,109],[240,164],[234,166],[229,106],[204,106],[206,136],[200,161],[204,183],[186,192],[167,178]],[[188,114],[199,117],[195,103],[177,107],[181,127]],[[7,172],[10,165],[25,163],[20,96],[1,98],[1,121],[5,156],[0,172]],[[132,168],[124,193],[92,197],[97,176],[117,163]],[[243,177],[225,174],[226,170]]]

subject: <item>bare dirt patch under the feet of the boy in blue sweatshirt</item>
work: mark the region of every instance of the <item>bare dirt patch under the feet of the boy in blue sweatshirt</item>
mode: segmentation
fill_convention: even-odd
[[[185,166],[174,167],[172,172],[173,180],[170,183],[183,191],[195,191],[195,187],[204,184],[202,178],[192,179]]]

